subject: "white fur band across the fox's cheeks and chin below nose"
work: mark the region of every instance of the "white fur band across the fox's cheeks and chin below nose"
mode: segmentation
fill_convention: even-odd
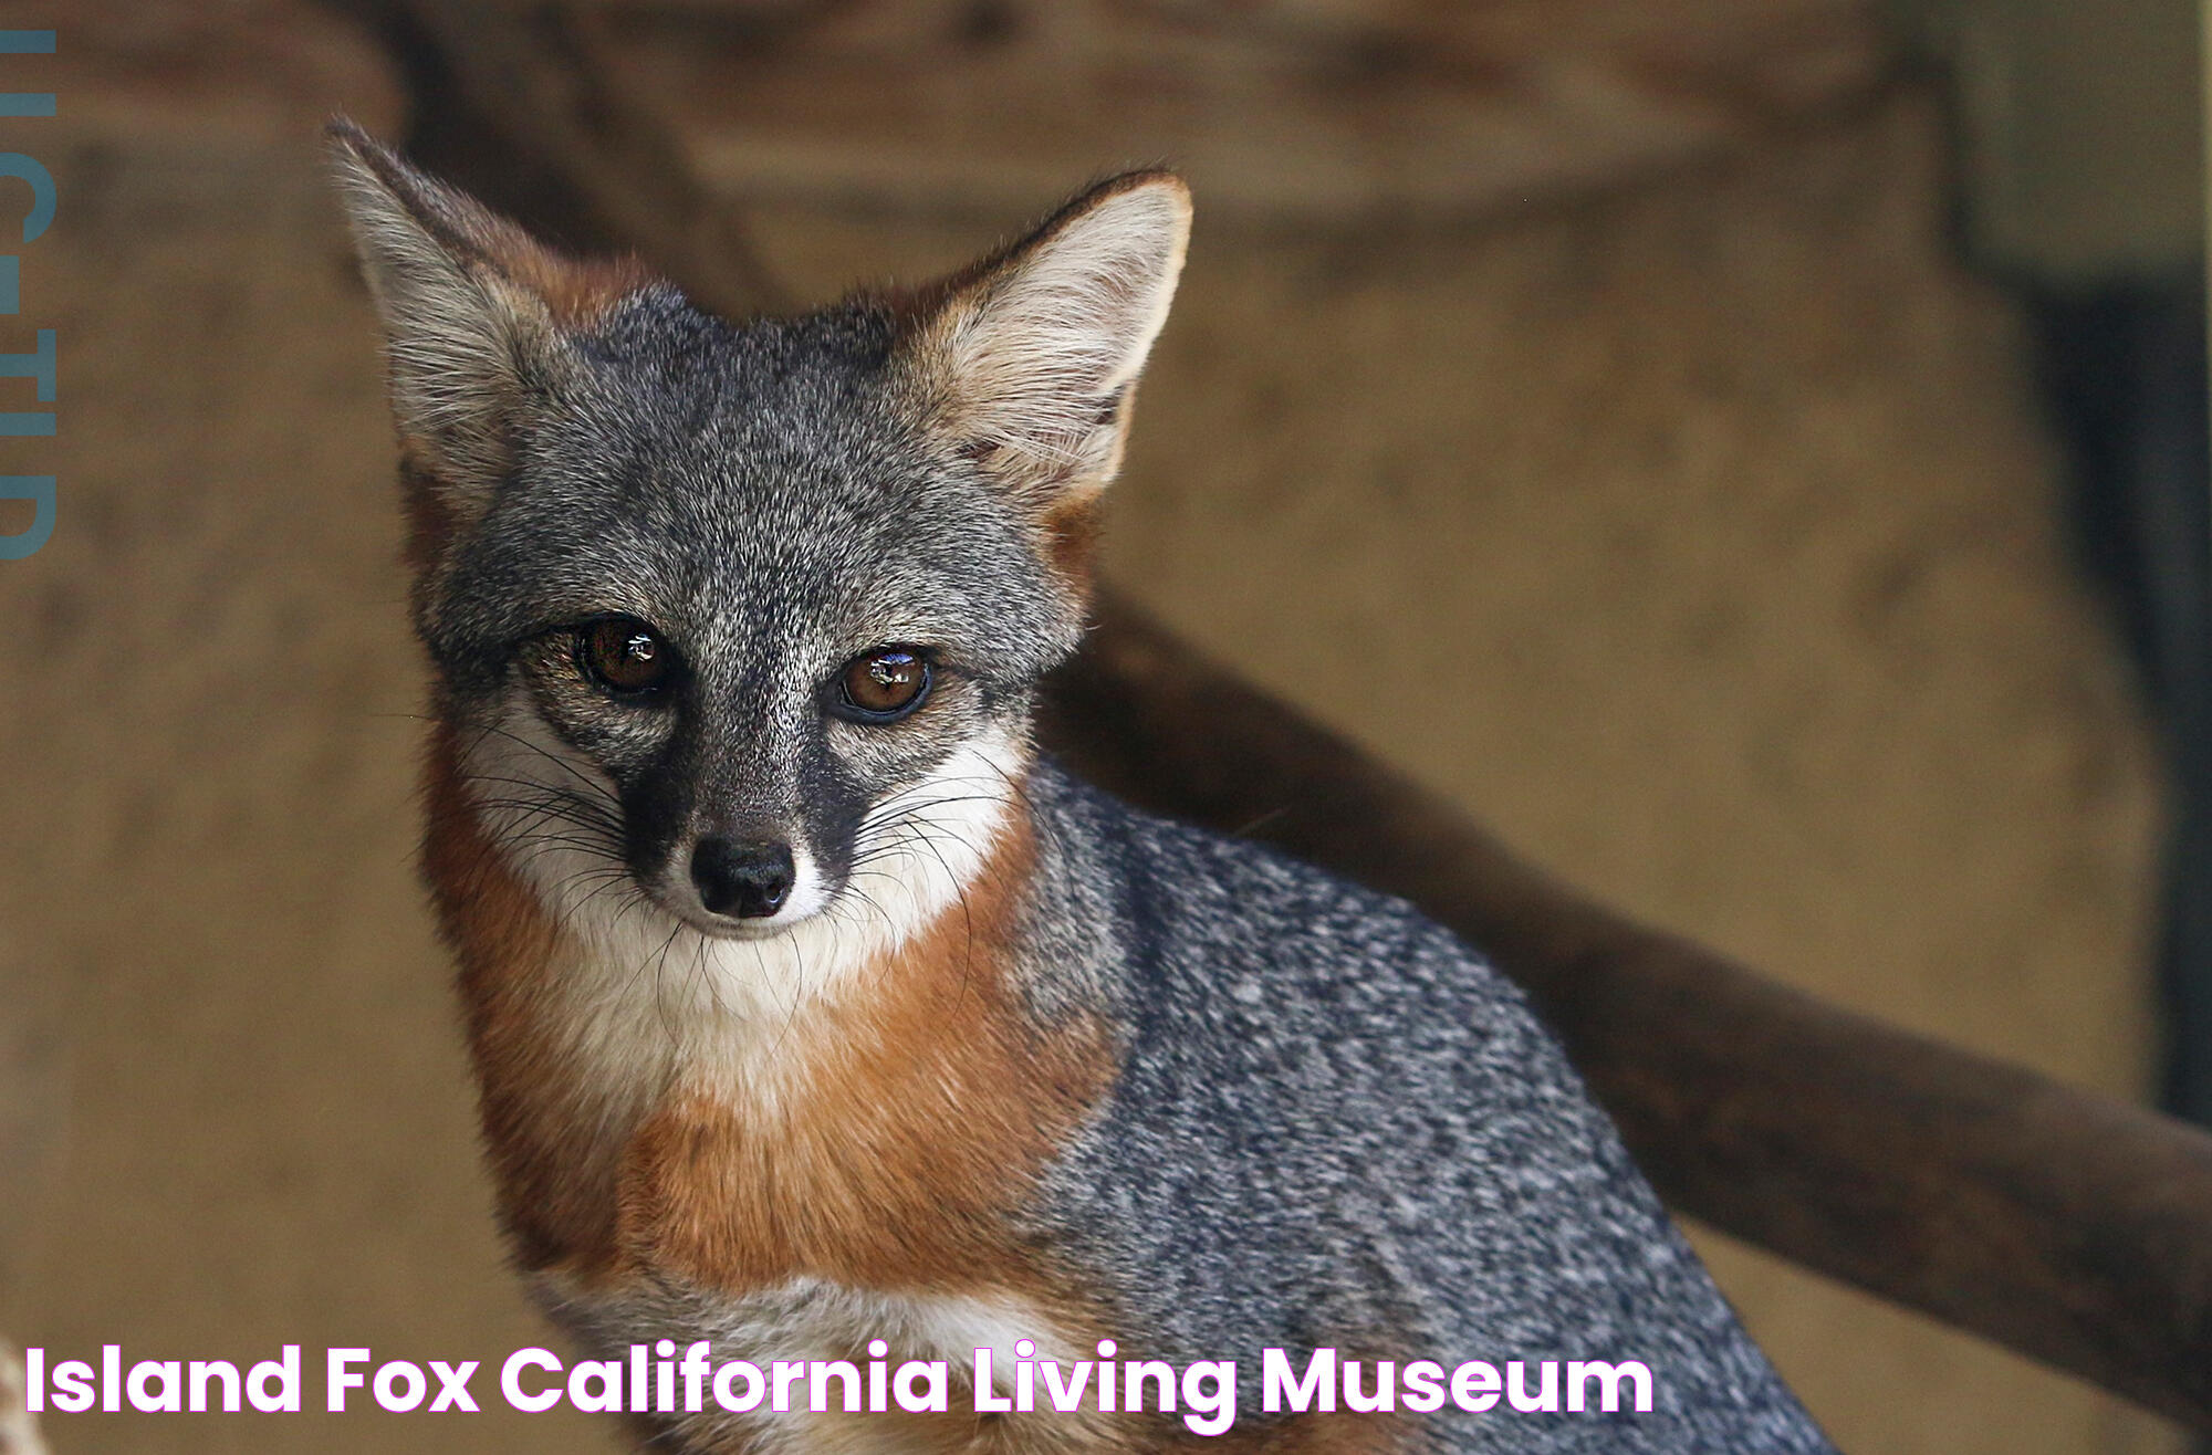
[[[982,869],[1022,770],[1022,747],[1000,732],[962,743],[927,781],[900,789],[891,814],[860,825],[854,873],[830,896],[821,867],[796,849],[790,902],[752,920],[743,938],[710,935],[668,913],[630,880],[617,858],[557,838],[529,807],[498,803],[524,781],[544,789],[580,787],[577,774],[608,789],[604,774],[577,758],[529,708],[509,712],[465,752],[471,781],[491,783],[478,814],[522,878],[584,949],[593,993],[644,997],[668,1028],[701,1033],[723,1022],[790,1024],[810,999],[832,993],[852,971],[896,951],[960,900]]]

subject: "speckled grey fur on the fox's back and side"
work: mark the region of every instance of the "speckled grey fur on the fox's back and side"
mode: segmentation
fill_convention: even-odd
[[[1243,1411],[1270,1344],[1644,1360],[1655,1413],[1447,1404],[1444,1448],[1829,1448],[1526,999],[1464,944],[1051,765],[1029,800],[1033,964],[1053,999],[1104,995],[1128,1037],[1037,1232],[1164,1358],[1237,1358]]]

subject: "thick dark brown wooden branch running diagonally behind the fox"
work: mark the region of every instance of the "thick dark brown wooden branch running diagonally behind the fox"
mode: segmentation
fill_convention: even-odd
[[[730,312],[770,296],[666,128],[588,71],[564,20],[374,9],[418,49],[418,86],[445,75],[502,111],[473,133],[418,128],[425,166],[533,228],[575,239],[584,219]],[[1630,924],[1115,597],[1057,679],[1048,736],[1139,803],[1261,823],[1484,946],[1679,1210],[2212,1431],[2212,1137]]]

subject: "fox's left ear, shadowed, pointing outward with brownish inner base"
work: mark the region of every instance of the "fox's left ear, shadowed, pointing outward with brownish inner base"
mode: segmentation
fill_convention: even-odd
[[[330,150],[383,314],[400,438],[440,515],[465,524],[507,475],[531,396],[557,387],[571,363],[562,325],[646,276],[555,254],[352,122],[332,122]]]

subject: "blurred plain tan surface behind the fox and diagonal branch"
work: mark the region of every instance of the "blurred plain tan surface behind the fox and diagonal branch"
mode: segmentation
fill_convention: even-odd
[[[498,1360],[544,1331],[500,1267],[411,878],[392,447],[312,135],[42,137],[64,206],[24,250],[22,327],[60,332],[62,431],[9,469],[62,484],[53,542],[0,564],[0,1329],[126,1360]],[[1199,197],[1108,562],[1624,909],[2132,1095],[2152,754],[2055,535],[2015,321],[1947,261],[1938,155],[1900,102],[1486,228],[1285,237],[1210,228]],[[761,230],[810,294],[989,239]],[[1705,1247],[1847,1451],[2172,1448]],[[51,1440],[615,1444],[498,1411]]]

